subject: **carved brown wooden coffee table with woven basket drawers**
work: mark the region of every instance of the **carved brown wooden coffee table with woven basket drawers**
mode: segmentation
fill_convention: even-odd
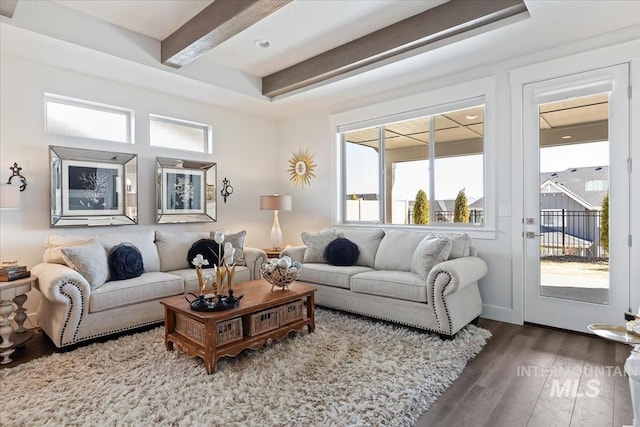
[[[175,345],[191,357],[202,358],[207,374],[211,374],[222,357],[257,350],[305,326],[309,332],[315,330],[313,286],[294,282],[289,290],[271,291],[271,284],[260,279],[235,284],[233,290],[244,298],[238,307],[226,311],[191,310],[184,295],[160,301],[167,350]]]

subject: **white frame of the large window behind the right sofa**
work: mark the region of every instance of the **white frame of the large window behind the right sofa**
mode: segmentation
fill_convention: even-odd
[[[473,224],[461,225],[394,225],[376,223],[376,227],[385,228],[425,228],[437,232],[467,232],[471,237],[495,239],[497,218],[496,194],[496,78],[495,76],[472,80],[454,86],[443,87],[428,92],[422,92],[393,101],[374,104],[330,117],[333,149],[333,177],[336,197],[334,204],[334,221],[344,223],[344,188],[345,171],[342,153],[342,137],[344,132],[379,126],[385,123],[397,122],[418,117],[419,115],[436,114],[450,110],[451,106],[465,103],[475,98],[484,98],[484,226]],[[462,104],[464,105],[464,104]],[[383,171],[384,173],[384,171]],[[381,176],[381,179],[384,179]],[[382,190],[381,190],[382,191]],[[350,225],[353,223],[349,223]],[[367,226],[357,223],[356,225]],[[368,226],[372,226],[371,224]]]

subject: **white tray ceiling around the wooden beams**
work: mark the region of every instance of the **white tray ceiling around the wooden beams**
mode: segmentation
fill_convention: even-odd
[[[176,70],[160,64],[160,40],[209,0],[19,0],[13,18],[0,17],[0,48],[201,102],[286,117],[322,106],[361,105],[376,93],[510,58],[535,58],[616,31],[625,32],[623,39],[640,34],[640,0],[525,0],[528,19],[473,31],[273,100],[262,96],[260,77],[443,2],[294,0]],[[256,39],[269,40],[271,47],[257,48]]]

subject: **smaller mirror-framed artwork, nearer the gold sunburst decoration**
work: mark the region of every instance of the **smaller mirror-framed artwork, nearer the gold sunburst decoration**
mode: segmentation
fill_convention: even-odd
[[[216,221],[216,164],[165,157],[156,159],[156,223]]]

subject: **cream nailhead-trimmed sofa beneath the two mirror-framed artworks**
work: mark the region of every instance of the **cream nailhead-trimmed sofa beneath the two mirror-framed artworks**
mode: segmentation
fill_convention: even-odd
[[[242,231],[225,236],[225,241],[231,241],[236,249],[234,282],[259,278],[260,265],[267,261],[264,251],[244,247],[245,235]],[[160,299],[198,292],[198,279],[195,270],[189,267],[187,252],[195,241],[203,238],[213,238],[213,232],[133,231],[49,237],[45,242],[44,262],[32,269],[38,276],[36,287],[42,293],[38,308],[40,327],[57,347],[65,347],[161,322],[164,311]],[[144,273],[118,281],[107,277],[107,281],[100,284],[94,283],[93,274],[88,280],[66,264],[62,248],[83,253],[85,248],[95,248],[96,242],[104,248],[105,256],[115,245],[133,244],[142,254]],[[97,260],[87,262],[90,268],[103,267],[102,253],[97,252]],[[206,270],[204,272],[206,274]]]

